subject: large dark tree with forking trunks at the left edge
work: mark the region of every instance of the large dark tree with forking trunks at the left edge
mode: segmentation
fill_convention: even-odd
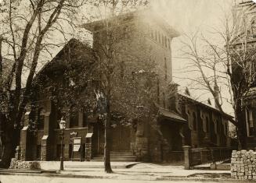
[[[30,0],[1,2],[0,114],[3,128],[1,167],[8,167],[19,143],[21,118],[41,60],[65,40],[64,27],[74,28],[84,0]],[[59,36],[59,34],[61,36]]]

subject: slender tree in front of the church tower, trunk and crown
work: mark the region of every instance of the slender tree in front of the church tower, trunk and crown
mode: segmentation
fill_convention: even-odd
[[[96,79],[100,83],[100,90],[96,91],[96,93],[99,96],[102,95],[102,97],[106,98],[106,104],[104,104],[105,107],[103,107],[104,109],[102,111],[102,113],[104,114],[105,125],[104,167],[106,173],[111,173],[111,115],[114,111],[118,111],[118,106],[120,108],[121,106],[124,106],[125,103],[121,104],[121,102],[119,103],[119,105],[115,104],[118,101],[117,96],[122,95],[122,93],[120,93],[122,88],[121,85],[123,85],[123,89],[125,89],[125,78],[132,79],[132,70],[130,70],[130,74],[127,74],[128,71],[124,72],[124,60],[127,60],[127,58],[131,58],[131,60],[139,60],[139,58],[135,59],[135,54],[132,54],[132,51],[125,52],[125,49],[127,49],[128,47],[128,43],[126,42],[123,44],[123,42],[125,42],[125,40],[129,40],[128,36],[130,33],[132,34],[132,30],[130,29],[130,26],[126,27],[127,29],[124,30],[125,25],[122,25],[122,23],[125,22],[124,18],[129,16],[129,12],[131,12],[132,10],[136,10],[141,6],[145,6],[147,4],[147,1],[111,0],[92,1],[92,3],[96,7],[96,17],[98,17],[98,19],[100,20],[99,22],[92,22],[86,24],[85,28],[91,30],[94,33],[94,48],[98,57],[98,65],[96,70],[98,71],[97,73],[100,73]],[[88,19],[89,22],[92,21],[92,17],[89,17]],[[131,40],[134,40],[134,38],[132,38]],[[139,46],[135,47],[135,49],[136,48],[136,51],[141,51]],[[119,55],[123,55],[124,58],[118,58]],[[120,90],[118,90],[118,88]],[[127,93],[127,91],[125,93]],[[121,98],[119,97],[119,99]],[[120,101],[124,102],[124,100]],[[138,102],[136,104],[138,104]]]

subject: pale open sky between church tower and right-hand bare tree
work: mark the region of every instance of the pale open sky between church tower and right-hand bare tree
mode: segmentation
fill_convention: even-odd
[[[224,13],[228,12],[232,8],[232,4],[240,2],[240,0],[155,0],[153,1],[153,9],[160,16],[169,23],[170,26],[178,30],[181,34],[172,40],[172,68],[173,68],[173,80],[178,83],[179,89],[182,90],[186,86],[191,84],[189,79],[186,79],[189,75],[190,78],[196,79],[197,76],[193,76],[188,72],[184,72],[184,68],[189,64],[187,59],[181,58],[182,52],[182,39],[184,34],[195,33],[200,31],[206,37],[221,42],[218,37],[210,35],[209,30],[213,27],[221,28],[221,20],[224,17]],[[245,0],[243,0],[245,1]],[[211,104],[214,104],[212,96],[205,90],[190,90],[191,95],[197,100],[206,102],[208,98],[211,98]],[[223,91],[223,95],[229,95],[228,91]],[[223,108],[229,114],[233,114],[233,107],[231,104],[224,101]]]

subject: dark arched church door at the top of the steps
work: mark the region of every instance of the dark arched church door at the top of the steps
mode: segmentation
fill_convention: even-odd
[[[131,143],[130,127],[117,125],[112,128],[112,151],[130,150]]]

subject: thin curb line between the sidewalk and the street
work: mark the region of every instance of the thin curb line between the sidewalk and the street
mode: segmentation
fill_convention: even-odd
[[[115,179],[115,180],[135,180],[135,179],[128,179],[128,178],[118,178],[118,177],[107,177],[107,176],[92,176],[92,175],[82,175],[82,174],[29,174],[29,173],[1,173],[2,175],[21,175],[21,176],[38,176],[38,177],[51,177],[51,178],[94,178],[94,179]],[[237,179],[220,179],[220,178],[189,178],[189,177],[182,177],[182,176],[171,176],[171,177],[163,177],[163,178],[150,178],[143,179],[139,178],[136,179],[139,181],[203,181],[203,182],[256,182],[256,180],[237,180]]]

